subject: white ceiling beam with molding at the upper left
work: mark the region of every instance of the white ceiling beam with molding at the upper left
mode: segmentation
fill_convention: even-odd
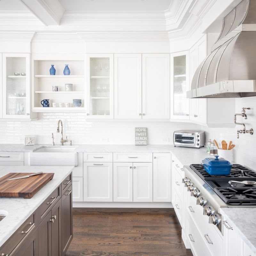
[[[58,0],[20,0],[46,26],[60,25],[65,9]]]

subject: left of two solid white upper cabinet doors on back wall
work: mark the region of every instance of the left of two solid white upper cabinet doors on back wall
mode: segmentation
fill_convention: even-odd
[[[141,119],[141,54],[114,54],[115,119]]]

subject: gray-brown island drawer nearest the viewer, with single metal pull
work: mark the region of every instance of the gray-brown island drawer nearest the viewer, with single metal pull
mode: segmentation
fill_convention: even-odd
[[[33,213],[0,248],[0,255],[10,255],[20,241],[33,233],[37,226],[38,222],[35,213]]]

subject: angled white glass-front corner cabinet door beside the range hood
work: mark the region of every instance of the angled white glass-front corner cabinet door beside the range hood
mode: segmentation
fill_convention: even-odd
[[[171,119],[189,120],[188,51],[171,53]]]

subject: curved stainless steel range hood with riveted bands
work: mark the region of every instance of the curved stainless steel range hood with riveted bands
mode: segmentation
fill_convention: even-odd
[[[243,0],[223,19],[220,36],[187,92],[187,98],[249,96],[256,96],[256,0]]]

